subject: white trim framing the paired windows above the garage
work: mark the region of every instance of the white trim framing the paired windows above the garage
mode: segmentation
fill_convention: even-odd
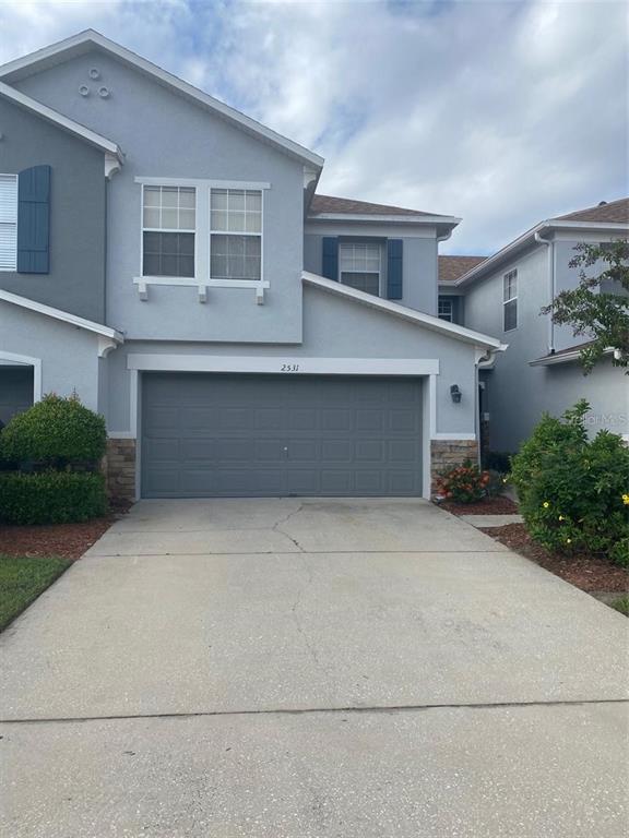
[[[192,287],[198,289],[199,302],[207,302],[209,288],[233,288],[233,289],[252,289],[256,291],[256,302],[264,302],[264,291],[271,287],[271,284],[264,279],[264,192],[271,189],[266,182],[238,181],[238,180],[209,180],[203,178],[154,178],[138,177],[135,183],[141,185],[140,191],[140,270],[133,277],[133,284],[138,287],[138,294],[142,301],[149,299],[149,288],[152,285]],[[144,228],[144,187],[193,187],[194,193],[194,276],[144,276],[144,229],[152,231],[153,228]],[[211,265],[211,236],[214,234],[225,234],[225,230],[210,229],[210,201],[212,189],[244,189],[258,190],[262,196],[262,212],[260,234],[234,234],[244,236],[260,236],[260,279],[214,279],[210,277]],[[207,230],[207,235],[201,235],[201,231]],[[192,230],[155,230],[156,232],[192,232]],[[226,235],[229,235],[228,232]]]

